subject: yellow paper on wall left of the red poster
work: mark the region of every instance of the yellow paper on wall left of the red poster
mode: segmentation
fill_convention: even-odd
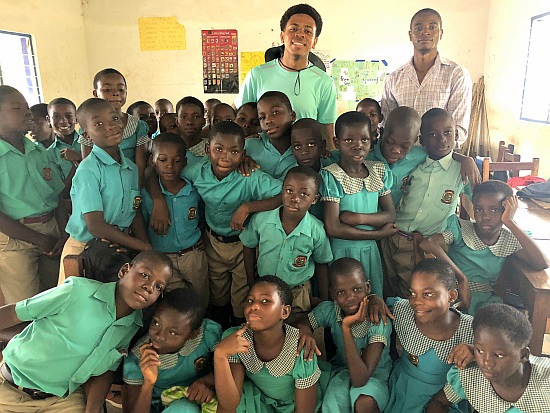
[[[171,17],[139,17],[139,46],[141,51],[185,50],[185,26]]]

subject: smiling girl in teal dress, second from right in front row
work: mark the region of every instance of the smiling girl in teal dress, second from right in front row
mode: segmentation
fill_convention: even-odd
[[[473,343],[472,317],[450,307],[458,295],[456,283],[447,263],[426,259],[412,273],[410,298],[388,299],[403,350],[390,375],[390,399],[384,412],[422,413],[445,385],[450,363],[465,367],[473,359],[465,346],[453,350],[461,343]],[[383,302],[371,297],[370,305],[383,307]],[[449,411],[469,410],[464,404]]]

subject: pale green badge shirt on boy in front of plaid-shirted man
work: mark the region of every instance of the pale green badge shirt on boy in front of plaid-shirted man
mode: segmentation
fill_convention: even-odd
[[[438,161],[427,158],[412,172],[404,189],[396,210],[398,228],[424,236],[443,232],[462,192],[471,197],[470,184],[464,186],[460,162],[453,159],[452,152]]]

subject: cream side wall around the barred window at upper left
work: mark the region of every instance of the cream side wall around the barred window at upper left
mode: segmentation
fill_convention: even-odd
[[[34,36],[46,102],[66,96],[79,103],[88,97],[90,77],[82,7],[76,0],[0,0],[0,29]]]

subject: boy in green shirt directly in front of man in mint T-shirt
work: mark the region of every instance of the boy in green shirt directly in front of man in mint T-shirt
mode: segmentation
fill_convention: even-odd
[[[296,160],[290,149],[290,128],[296,114],[282,92],[266,92],[258,100],[258,119],[262,132],[258,139],[247,139],[246,154],[274,178],[285,176]]]

